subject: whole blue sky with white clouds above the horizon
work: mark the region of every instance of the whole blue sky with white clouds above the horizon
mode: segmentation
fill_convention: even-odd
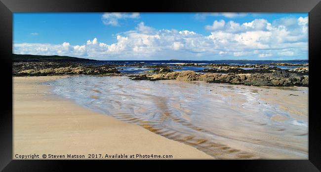
[[[98,60],[308,59],[308,13],[13,13],[13,53]]]

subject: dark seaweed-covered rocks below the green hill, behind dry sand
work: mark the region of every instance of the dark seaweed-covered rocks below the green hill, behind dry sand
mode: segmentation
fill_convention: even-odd
[[[120,73],[117,68],[107,65],[94,66],[81,63],[59,63],[59,62],[23,62],[13,63],[13,76],[48,76],[48,75],[104,75]]]

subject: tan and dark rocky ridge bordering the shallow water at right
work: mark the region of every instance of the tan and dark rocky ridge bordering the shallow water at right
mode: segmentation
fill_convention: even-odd
[[[229,83],[248,86],[309,86],[309,76],[300,76],[286,71],[273,71],[270,73],[248,73],[248,74],[200,74],[194,71],[171,72],[167,74],[140,75],[134,80],[169,80],[180,81],[205,81],[208,83]]]

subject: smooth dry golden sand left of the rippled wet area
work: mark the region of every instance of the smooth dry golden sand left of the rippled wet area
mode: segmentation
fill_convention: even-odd
[[[88,154],[94,154],[94,159],[99,159],[99,154],[104,157],[134,154],[134,159],[136,154],[172,155],[175,159],[213,158],[141,126],[83,108],[56,96],[49,85],[42,84],[60,78],[64,76],[13,77],[13,159],[34,154],[40,155],[36,159],[43,159],[42,154],[46,154],[46,159],[66,159],[48,158],[48,154],[84,155],[85,159],[91,159]]]

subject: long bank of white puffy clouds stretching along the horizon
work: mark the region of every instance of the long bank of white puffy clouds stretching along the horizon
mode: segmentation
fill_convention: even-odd
[[[294,23],[295,21],[295,23]],[[308,18],[269,23],[214,21],[210,34],[191,30],[154,29],[139,23],[107,44],[93,38],[82,45],[14,44],[16,54],[68,55],[95,59],[257,59],[308,57]]]

